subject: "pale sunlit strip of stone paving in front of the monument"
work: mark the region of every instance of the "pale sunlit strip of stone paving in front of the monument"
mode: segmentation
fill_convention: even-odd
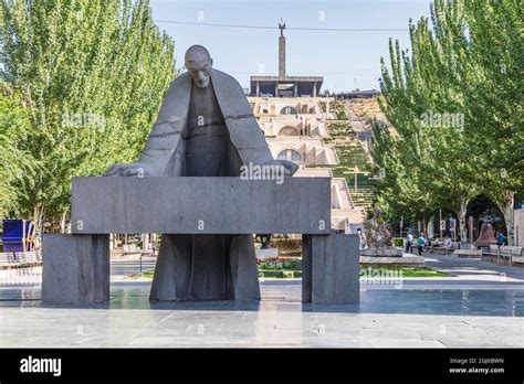
[[[264,319],[262,313],[255,322],[234,322],[234,316],[218,320],[212,312],[188,311],[184,318],[160,322],[140,316],[144,311],[116,310],[107,318],[101,310],[78,310],[64,317],[54,313],[52,323],[38,320],[39,313],[28,317],[31,327],[25,320],[2,321],[0,346],[524,346],[522,319],[515,318],[467,317],[468,323],[454,329],[451,324],[465,317],[331,313],[335,321],[319,324],[307,312],[293,322],[281,317]],[[11,309],[9,316],[20,320],[22,314],[27,317],[23,309]],[[380,326],[366,328],[374,321]],[[502,335],[485,330],[493,324],[504,324]]]

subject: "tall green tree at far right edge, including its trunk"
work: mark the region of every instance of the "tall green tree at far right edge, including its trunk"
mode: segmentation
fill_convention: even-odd
[[[513,245],[514,195],[524,185],[524,9],[516,0],[470,0],[467,21],[472,68],[461,86],[481,149],[475,174]]]

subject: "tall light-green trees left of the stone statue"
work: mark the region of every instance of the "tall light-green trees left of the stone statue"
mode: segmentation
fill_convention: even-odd
[[[174,41],[147,0],[2,0],[2,77],[31,129],[18,147],[41,166],[15,186],[18,210],[69,209],[71,178],[134,161],[175,78]]]

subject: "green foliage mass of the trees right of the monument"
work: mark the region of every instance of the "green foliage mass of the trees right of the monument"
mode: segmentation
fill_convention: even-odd
[[[449,209],[464,218],[480,193],[501,207],[522,191],[523,18],[516,0],[434,0],[409,23],[410,50],[390,40],[380,107],[398,131],[375,125],[389,217]],[[463,223],[464,224],[464,223]]]

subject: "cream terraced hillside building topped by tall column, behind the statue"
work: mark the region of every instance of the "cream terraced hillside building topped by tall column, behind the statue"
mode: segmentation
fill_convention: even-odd
[[[318,76],[302,76],[304,84],[293,83],[293,77],[285,74],[285,25],[280,26],[279,76],[265,76],[272,77],[269,85],[262,83],[264,76],[251,76],[248,99],[253,115],[273,157],[300,166],[295,177],[332,178],[331,225],[355,233],[373,201],[365,168],[371,161],[370,121],[385,119],[377,103],[379,94],[371,90],[321,96],[323,77]],[[281,79],[292,79],[293,87],[281,87]]]

